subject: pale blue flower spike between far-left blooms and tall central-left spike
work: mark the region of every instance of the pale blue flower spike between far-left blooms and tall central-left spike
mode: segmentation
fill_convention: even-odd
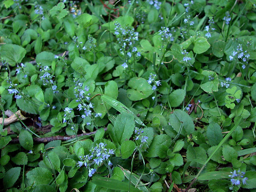
[[[53,93],[57,93],[58,91],[55,91],[57,89],[57,85],[55,81],[52,80],[54,76],[52,76],[48,71],[50,68],[48,66],[42,66],[41,63],[37,64],[37,67],[39,67],[39,71],[42,71],[44,74],[40,76],[40,80],[42,81],[43,85],[48,86],[49,88],[52,88]]]

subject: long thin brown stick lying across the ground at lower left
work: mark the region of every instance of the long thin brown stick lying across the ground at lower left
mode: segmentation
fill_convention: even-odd
[[[107,131],[107,129],[108,128],[105,127],[104,131]],[[93,132],[88,132],[88,133],[81,133],[81,134],[78,134],[77,137],[83,136],[83,135],[92,135],[92,134],[95,134],[96,132],[97,132],[97,130],[93,131]],[[47,142],[54,141],[54,140],[67,141],[67,140],[73,139],[75,137],[76,137],[75,135],[71,135],[71,136],[60,136],[60,135],[57,135],[57,136],[43,137],[43,138],[34,137],[33,141],[34,142],[38,142],[38,143],[47,143]],[[10,143],[19,143],[19,138],[13,138],[10,141]]]

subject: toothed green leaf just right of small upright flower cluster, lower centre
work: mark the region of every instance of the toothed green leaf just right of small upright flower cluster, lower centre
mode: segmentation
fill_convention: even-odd
[[[166,135],[166,134],[161,134],[161,135],[156,135],[156,137],[154,137],[151,145],[149,146],[149,149],[147,150],[148,153],[145,154],[145,156],[147,157],[156,157],[158,156],[158,150],[160,148],[161,145],[165,145],[167,147],[169,147],[171,145],[171,138],[170,136]]]

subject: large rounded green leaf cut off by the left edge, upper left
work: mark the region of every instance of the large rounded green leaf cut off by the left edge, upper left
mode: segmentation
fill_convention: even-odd
[[[26,55],[26,49],[15,44],[4,44],[1,46],[1,58],[5,59],[12,67],[20,63]]]

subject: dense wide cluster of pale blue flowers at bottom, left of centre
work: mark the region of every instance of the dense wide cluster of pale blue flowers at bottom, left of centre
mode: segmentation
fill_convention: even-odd
[[[85,156],[80,156],[81,161],[78,161],[77,167],[85,166],[89,170],[89,177],[97,171],[95,166],[101,166],[102,163],[108,167],[112,166],[109,157],[115,154],[114,149],[105,148],[107,144],[99,143],[96,147],[90,150],[90,154]],[[92,168],[94,166],[94,168]]]

